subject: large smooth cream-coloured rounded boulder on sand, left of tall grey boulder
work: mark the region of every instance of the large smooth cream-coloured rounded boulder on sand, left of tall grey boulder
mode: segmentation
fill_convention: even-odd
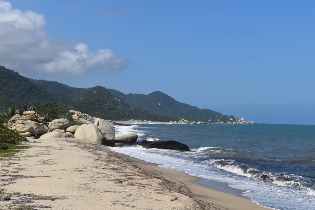
[[[57,132],[55,132],[57,133]],[[99,145],[106,145],[105,137],[100,133],[98,128],[93,124],[83,124],[77,128],[74,133],[76,139],[85,139],[95,142]]]

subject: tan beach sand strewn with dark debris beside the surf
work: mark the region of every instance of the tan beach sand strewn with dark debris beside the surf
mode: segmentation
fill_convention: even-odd
[[[77,139],[36,139],[0,161],[0,209],[266,209],[240,196],[194,183],[108,147]],[[172,199],[176,200],[172,201]]]

